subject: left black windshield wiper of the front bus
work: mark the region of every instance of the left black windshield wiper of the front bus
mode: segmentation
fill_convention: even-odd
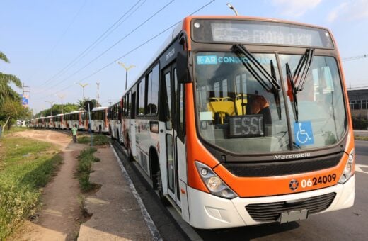
[[[253,77],[255,77],[255,80],[257,80],[257,82],[268,92],[272,92],[275,98],[275,103],[276,103],[276,107],[277,107],[277,113],[279,116],[279,120],[281,120],[281,106],[280,106],[280,85],[277,83],[277,78],[276,78],[276,72],[275,72],[275,67],[273,65],[272,60],[270,60],[270,66],[271,66],[271,74],[265,69],[265,67],[263,67],[263,65],[260,64],[260,62],[258,62],[257,59],[255,59],[255,57],[251,54],[251,52],[249,52],[246,47],[244,47],[243,45],[233,45],[233,49],[237,50],[234,51],[236,53],[236,55],[238,55],[238,57],[240,57],[241,62],[243,63],[243,65],[246,67],[246,69],[248,69],[249,72],[251,72],[251,74],[253,75]],[[240,55],[240,53],[245,55],[245,57],[247,58],[248,61],[245,61]],[[260,75],[258,74],[257,70],[255,70],[253,68],[253,66],[251,65],[251,63],[255,66],[255,68],[258,70],[258,72],[260,74],[262,74],[263,78],[260,77]],[[267,82],[265,82],[263,79],[266,79]],[[271,85],[271,86],[270,86]]]

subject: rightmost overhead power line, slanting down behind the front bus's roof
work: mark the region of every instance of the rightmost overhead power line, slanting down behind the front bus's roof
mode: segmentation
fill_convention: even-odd
[[[195,13],[197,13],[198,11],[200,11],[200,10],[204,9],[204,8],[205,8],[206,6],[208,6],[209,4],[212,4],[214,1],[215,1],[215,0],[211,0],[211,1],[207,2],[207,4],[205,4],[205,5],[203,5],[202,7],[200,7],[200,9],[197,9],[196,11],[194,11],[194,12],[190,13],[190,15],[189,15],[189,16],[194,15],[194,14],[195,14]],[[83,79],[81,79],[81,81],[84,81],[85,79],[88,79],[89,77],[92,77],[93,75],[97,74],[98,72],[101,72],[103,69],[105,69],[105,68],[109,67],[110,65],[115,64],[115,62],[116,62],[117,60],[120,60],[122,57],[126,57],[127,55],[130,55],[130,54],[131,54],[132,52],[134,52],[135,50],[138,50],[140,47],[142,47],[142,46],[146,45],[147,43],[151,42],[151,41],[152,41],[152,40],[154,40],[155,38],[159,37],[159,35],[161,35],[161,34],[165,33],[167,30],[169,30],[169,29],[173,28],[174,26],[176,26],[176,25],[177,25],[178,23],[180,23],[180,22],[181,22],[181,20],[180,20],[180,21],[178,21],[178,22],[176,22],[176,23],[174,23],[174,24],[172,24],[171,26],[169,26],[169,27],[168,27],[168,28],[166,28],[165,30],[162,30],[160,33],[158,33],[158,34],[154,35],[153,37],[149,38],[149,40],[144,41],[144,43],[142,43],[142,44],[138,45],[137,47],[134,47],[132,50],[130,50],[130,51],[128,51],[128,52],[126,52],[124,55],[122,55],[122,56],[120,56],[120,57],[117,57],[117,59],[113,60],[113,61],[112,61],[112,62],[110,62],[108,65],[105,65],[104,67],[102,67],[102,68],[98,69],[96,72],[93,72],[92,74],[88,75],[87,77],[84,77]],[[69,89],[69,88],[71,88],[71,86],[74,86],[74,84],[71,84],[71,85],[69,85],[69,86],[65,87],[64,89],[61,89],[61,90],[59,90],[59,91],[56,91],[56,92],[54,92],[53,94],[50,94],[49,96],[53,96],[54,94],[57,94],[57,93],[62,92],[62,91],[64,91],[64,90],[66,90],[66,89]],[[49,97],[49,96],[43,96],[42,98],[39,98],[39,99],[44,99],[45,97]],[[39,100],[39,99],[35,99],[35,100]]]

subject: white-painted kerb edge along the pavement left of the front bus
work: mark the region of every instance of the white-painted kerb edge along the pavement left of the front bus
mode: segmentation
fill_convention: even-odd
[[[146,224],[149,228],[149,231],[151,232],[152,237],[154,238],[154,240],[162,240],[162,237],[159,233],[159,230],[157,230],[156,225],[154,225],[154,221],[152,220],[151,216],[149,215],[146,207],[144,206],[144,203],[141,199],[141,197],[139,196],[137,190],[134,187],[134,184],[132,182],[132,179],[130,179],[129,174],[127,173],[127,170],[125,170],[125,167],[122,165],[122,162],[120,162],[120,158],[119,156],[117,156],[117,153],[115,152],[115,149],[113,147],[113,145],[111,145],[110,143],[110,147],[113,148],[113,152],[114,155],[116,157],[117,163],[119,164],[120,168],[122,169],[122,174],[125,176],[125,179],[127,180],[130,190],[132,190],[132,193],[134,195],[134,197],[137,199],[137,202],[139,204],[139,207],[141,208],[141,212],[143,215],[144,220],[146,221]]]

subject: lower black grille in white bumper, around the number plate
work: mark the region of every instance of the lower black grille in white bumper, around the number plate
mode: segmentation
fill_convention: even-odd
[[[281,201],[275,203],[249,204],[246,206],[246,211],[248,211],[249,215],[251,215],[251,218],[257,221],[277,221],[281,213],[290,211],[308,209],[309,214],[324,211],[333,202],[335,196],[336,193],[330,193],[321,196],[305,198],[303,201],[297,203],[287,203],[286,201]]]

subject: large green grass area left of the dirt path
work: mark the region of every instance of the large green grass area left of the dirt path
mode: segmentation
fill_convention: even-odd
[[[0,147],[0,240],[35,214],[42,187],[62,163],[53,145],[25,138],[3,138]]]

